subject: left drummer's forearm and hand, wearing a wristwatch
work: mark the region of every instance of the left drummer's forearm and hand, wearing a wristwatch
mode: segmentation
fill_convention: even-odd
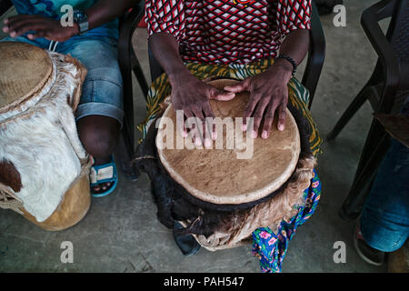
[[[135,5],[139,0],[99,0],[85,9],[89,29],[104,25],[116,17],[123,15],[126,9]],[[5,19],[3,31],[12,37],[27,35],[30,39],[45,37],[49,40],[63,42],[79,32],[78,25],[62,26],[59,20],[43,15],[15,15]]]

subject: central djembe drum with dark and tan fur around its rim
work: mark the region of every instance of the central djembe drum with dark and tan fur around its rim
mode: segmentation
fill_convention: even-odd
[[[236,82],[219,79],[209,84],[223,90]],[[245,92],[230,101],[211,100],[210,105],[216,117],[242,117],[248,99]],[[218,250],[248,243],[258,227],[276,230],[304,204],[304,189],[314,175],[315,158],[309,146],[310,127],[293,106],[288,105],[284,131],[278,131],[274,124],[267,139],[254,139],[251,158],[243,159],[236,156],[243,146],[163,146],[167,126],[174,126],[171,139],[179,135],[175,116],[174,108],[168,105],[158,126],[150,126],[134,159],[151,179],[162,224],[171,228],[179,221],[185,227],[180,235],[193,235],[201,246]],[[173,121],[170,125],[169,120]],[[227,134],[223,132],[224,140],[229,138]]]

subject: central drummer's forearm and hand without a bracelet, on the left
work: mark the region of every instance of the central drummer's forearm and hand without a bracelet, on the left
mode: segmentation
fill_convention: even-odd
[[[214,117],[209,103],[210,99],[230,100],[234,98],[234,93],[222,92],[205,84],[185,67],[179,55],[179,44],[173,35],[165,32],[155,33],[149,38],[149,45],[155,58],[169,77],[172,85],[172,105],[175,110],[183,110],[186,118],[198,117],[204,122],[206,117]],[[213,133],[214,138],[215,129],[207,128],[209,133]],[[178,130],[186,136],[184,128],[178,128]],[[195,131],[195,136],[205,137],[205,123],[202,134]],[[207,146],[210,140],[204,142]]]

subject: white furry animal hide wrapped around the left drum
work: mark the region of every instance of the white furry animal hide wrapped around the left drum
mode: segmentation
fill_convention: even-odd
[[[54,64],[53,81],[24,108],[0,114],[0,162],[17,170],[21,187],[13,192],[38,222],[53,214],[80,176],[80,160],[87,158],[73,113],[85,67],[70,56],[47,53]]]

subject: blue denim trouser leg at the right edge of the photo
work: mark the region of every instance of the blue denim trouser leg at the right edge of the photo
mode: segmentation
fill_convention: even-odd
[[[392,140],[365,200],[360,219],[365,242],[393,252],[409,236],[409,148]]]

